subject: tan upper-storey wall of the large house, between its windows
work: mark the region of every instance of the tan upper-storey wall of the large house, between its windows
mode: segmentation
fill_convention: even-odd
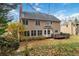
[[[29,20],[28,25],[25,25],[27,30],[34,30],[34,29],[44,29],[46,26],[46,21],[40,21],[40,25],[36,25],[36,21],[34,20]],[[60,22],[52,22],[51,27],[53,30],[58,30],[60,31]]]

